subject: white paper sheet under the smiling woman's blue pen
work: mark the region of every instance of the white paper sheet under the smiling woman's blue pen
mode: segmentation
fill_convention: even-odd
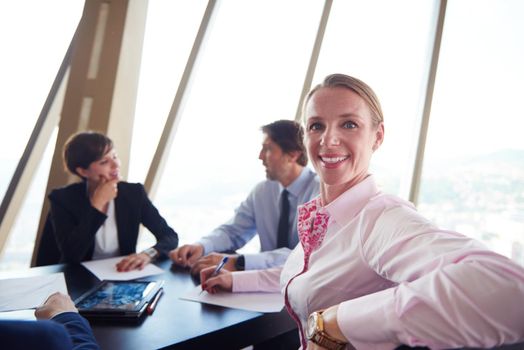
[[[284,296],[280,293],[228,293],[209,294],[202,287],[193,288],[183,300],[231,307],[256,312],[279,312],[284,307]]]

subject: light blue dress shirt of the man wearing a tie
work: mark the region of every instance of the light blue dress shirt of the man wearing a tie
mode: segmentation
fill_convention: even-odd
[[[304,167],[299,177],[287,188],[289,192],[289,242],[298,243],[297,207],[318,195],[318,176]],[[278,181],[265,180],[259,183],[245,201],[236,209],[235,215],[226,224],[217,227],[198,243],[204,246],[204,254],[234,251],[242,248],[258,233],[261,253],[246,254],[246,270],[281,266],[291,252],[289,248],[277,247],[277,228],[280,216],[280,197],[284,187]]]

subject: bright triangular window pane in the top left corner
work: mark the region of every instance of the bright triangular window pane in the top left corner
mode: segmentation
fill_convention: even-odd
[[[0,196],[80,20],[82,0],[0,3]]]

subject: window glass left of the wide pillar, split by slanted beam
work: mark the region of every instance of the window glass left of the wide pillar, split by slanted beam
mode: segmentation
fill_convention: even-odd
[[[84,1],[8,1],[0,4],[0,196],[47,98],[82,15]],[[54,146],[56,133],[49,145]],[[40,166],[11,229],[0,270],[27,268],[33,253],[52,147]]]

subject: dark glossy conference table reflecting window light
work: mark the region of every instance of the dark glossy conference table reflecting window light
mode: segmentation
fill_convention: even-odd
[[[284,310],[260,313],[186,301],[198,283],[187,269],[169,260],[156,263],[165,272],[144,279],[164,280],[164,295],[152,315],[138,323],[91,321],[102,349],[241,349],[296,329]],[[81,264],[28,269],[18,277],[63,272],[69,294],[78,298],[99,280]]]

